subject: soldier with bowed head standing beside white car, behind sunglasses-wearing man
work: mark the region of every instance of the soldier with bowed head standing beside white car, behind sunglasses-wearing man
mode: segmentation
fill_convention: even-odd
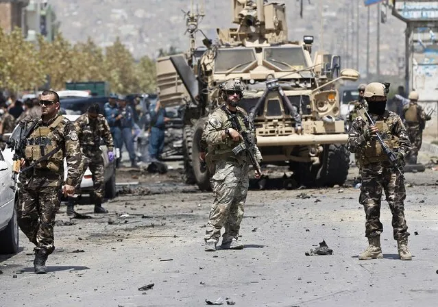
[[[75,187],[80,190],[80,183],[86,169],[89,167],[93,176],[94,193],[93,201],[95,203],[95,213],[108,213],[102,207],[102,199],[104,199],[104,159],[102,158],[102,151],[100,149],[100,140],[104,140],[106,147],[108,147],[108,160],[114,160],[114,145],[112,143],[112,136],[110,126],[105,117],[99,114],[99,104],[95,103],[88,107],[86,114],[81,115],[75,121],[75,128],[79,136],[80,147],[82,150],[82,164],[81,177]],[[67,215],[75,216],[74,198],[69,198],[67,205]]]

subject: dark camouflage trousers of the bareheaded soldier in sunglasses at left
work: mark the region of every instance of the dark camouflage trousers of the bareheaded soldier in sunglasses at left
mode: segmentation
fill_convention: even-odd
[[[60,186],[43,188],[20,188],[17,217],[21,231],[36,245],[35,249],[45,248],[51,254],[53,245],[53,226],[55,214],[60,208]]]

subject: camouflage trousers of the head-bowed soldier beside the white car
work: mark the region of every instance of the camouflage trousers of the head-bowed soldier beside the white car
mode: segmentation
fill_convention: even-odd
[[[104,158],[102,158],[101,151],[97,153],[84,153],[80,165],[81,176],[78,181],[76,190],[80,190],[80,184],[84,177],[86,169],[90,168],[91,178],[93,180],[93,197],[95,204],[101,204],[104,199]]]

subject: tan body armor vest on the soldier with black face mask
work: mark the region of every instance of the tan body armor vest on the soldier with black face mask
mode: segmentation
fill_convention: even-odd
[[[383,141],[391,150],[398,149],[400,147],[398,136],[393,136],[391,130],[385,121],[376,121],[376,127],[378,128],[379,134]],[[368,140],[365,149],[363,151],[363,156],[361,159],[361,164],[366,165],[375,162],[389,161],[388,156],[382,149],[382,145],[378,142],[377,138],[372,138]]]

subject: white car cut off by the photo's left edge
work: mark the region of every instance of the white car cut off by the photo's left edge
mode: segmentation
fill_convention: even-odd
[[[12,164],[0,151],[0,254],[19,250],[19,223],[16,220],[18,193],[12,190]]]

